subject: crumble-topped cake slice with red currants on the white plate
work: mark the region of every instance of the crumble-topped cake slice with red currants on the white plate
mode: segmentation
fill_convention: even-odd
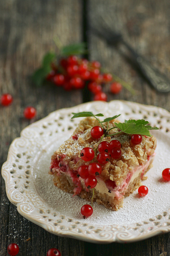
[[[124,197],[145,179],[155,148],[154,136],[127,134],[121,132],[115,120],[99,123],[87,117],[54,152],[49,174],[63,191],[88,201],[93,196],[94,202],[118,210]]]

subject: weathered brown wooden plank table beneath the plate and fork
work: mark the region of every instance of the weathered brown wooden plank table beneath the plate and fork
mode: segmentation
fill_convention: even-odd
[[[125,49],[108,46],[104,39],[91,32],[91,26],[109,26],[121,31],[125,40],[150,62],[169,76],[170,71],[170,2],[140,0],[2,0],[0,2],[0,94],[9,92],[14,102],[0,107],[0,164],[7,158],[12,140],[30,122],[23,118],[25,106],[37,109],[37,119],[50,112],[92,100],[82,91],[65,92],[55,86],[33,86],[30,76],[39,67],[45,52],[55,48],[53,38],[63,45],[85,41],[88,58],[137,90],[132,95],[123,89],[109,93],[108,100],[123,99],[160,106],[170,111],[170,94],[156,92],[126,58]],[[170,76],[169,76],[170,78]],[[31,240],[26,241],[27,238]],[[132,244],[91,244],[62,238],[45,231],[18,214],[5,192],[0,176],[0,255],[7,255],[7,246],[20,246],[18,255],[46,255],[49,248],[58,248],[62,256],[169,256],[170,233]]]

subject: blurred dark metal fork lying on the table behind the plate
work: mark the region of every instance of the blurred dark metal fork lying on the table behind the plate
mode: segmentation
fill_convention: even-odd
[[[96,28],[92,28],[92,32],[101,38],[105,38],[109,45],[122,43],[129,50],[133,57],[133,62],[137,65],[143,76],[145,76],[150,84],[158,92],[170,92],[170,80],[154,68],[149,61],[143,58],[143,56],[139,55],[127,42],[125,42],[120,33],[113,32],[106,28],[102,29],[102,32],[96,30]]]

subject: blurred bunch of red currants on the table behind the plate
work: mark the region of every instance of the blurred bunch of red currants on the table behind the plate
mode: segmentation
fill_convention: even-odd
[[[110,91],[117,94],[122,85],[113,82],[113,76],[101,72],[98,61],[88,61],[77,56],[68,56],[59,61],[59,65],[51,65],[51,72],[46,79],[56,86],[63,86],[64,90],[82,89],[88,84],[88,90],[94,94],[94,100],[107,101],[107,95],[102,92],[102,84],[110,83]]]

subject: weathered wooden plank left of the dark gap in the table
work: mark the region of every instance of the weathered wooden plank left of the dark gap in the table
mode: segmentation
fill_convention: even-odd
[[[35,88],[31,82],[43,55],[56,49],[55,36],[63,45],[82,41],[81,10],[78,0],[0,2],[0,94],[8,92],[14,97],[11,106],[0,107],[1,164],[12,140],[30,124],[23,118],[26,106],[35,106],[38,120],[56,109],[82,102],[80,91],[64,92],[55,86]],[[82,255],[84,250],[83,242],[57,237],[20,216],[16,206],[10,204],[0,176],[0,255],[6,255],[11,242],[20,246],[19,255],[45,255],[52,247],[58,247],[63,255]],[[73,248],[77,249],[70,254]]]

